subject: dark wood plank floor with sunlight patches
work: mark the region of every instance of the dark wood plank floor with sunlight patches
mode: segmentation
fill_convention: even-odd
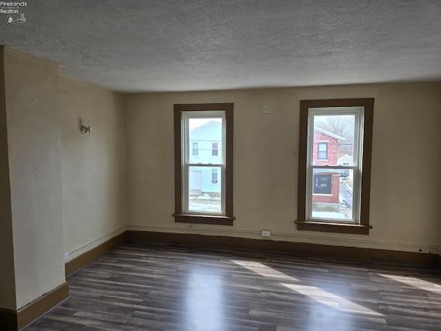
[[[25,331],[441,330],[432,270],[125,244],[68,282]]]

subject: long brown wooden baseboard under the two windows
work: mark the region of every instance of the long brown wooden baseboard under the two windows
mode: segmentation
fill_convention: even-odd
[[[127,242],[183,244],[245,250],[264,250],[270,252],[285,252],[290,254],[327,257],[332,259],[349,259],[353,261],[370,261],[372,263],[415,265],[430,268],[437,268],[438,263],[441,263],[441,257],[438,254],[320,245],[314,243],[292,243],[289,241],[205,236],[202,234],[129,230],[127,231]]]

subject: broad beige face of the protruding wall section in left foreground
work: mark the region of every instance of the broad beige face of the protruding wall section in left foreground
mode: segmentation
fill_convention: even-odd
[[[18,309],[65,281],[58,67],[10,48],[4,65]]]

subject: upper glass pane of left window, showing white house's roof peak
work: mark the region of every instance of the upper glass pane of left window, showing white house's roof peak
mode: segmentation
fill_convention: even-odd
[[[194,118],[188,119],[188,140],[192,142],[193,152],[189,152],[189,163],[222,163],[213,156],[222,155],[222,118]],[[194,146],[197,144],[198,153],[194,154]],[[197,156],[197,157],[196,157]]]

